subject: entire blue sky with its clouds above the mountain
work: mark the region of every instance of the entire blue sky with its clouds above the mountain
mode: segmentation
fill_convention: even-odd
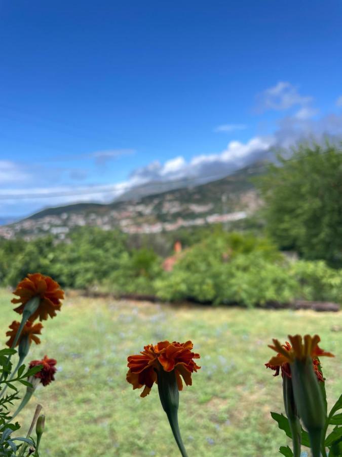
[[[0,0],[0,216],[342,135],[341,19],[339,0]]]

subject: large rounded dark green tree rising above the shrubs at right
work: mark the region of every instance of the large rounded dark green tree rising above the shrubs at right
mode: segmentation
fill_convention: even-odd
[[[260,180],[268,230],[282,249],[342,265],[342,149],[301,144]]]

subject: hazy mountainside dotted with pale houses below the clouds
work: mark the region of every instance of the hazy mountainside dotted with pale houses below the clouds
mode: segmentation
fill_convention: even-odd
[[[237,220],[259,206],[259,197],[250,178],[261,175],[266,163],[255,162],[204,184],[143,196],[139,191],[134,194],[131,189],[130,200],[122,195],[108,204],[82,202],[49,207],[0,227],[0,237],[30,239],[52,234],[64,239],[72,227],[80,225],[96,225],[104,230],[117,227],[127,233],[158,233],[181,226]]]

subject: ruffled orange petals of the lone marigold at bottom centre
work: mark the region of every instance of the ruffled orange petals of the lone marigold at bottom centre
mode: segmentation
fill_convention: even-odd
[[[157,383],[156,370],[174,370],[178,390],[182,390],[181,377],[186,385],[192,385],[191,374],[201,368],[193,360],[200,358],[200,354],[192,352],[193,347],[191,341],[185,343],[161,341],[155,346],[148,344],[140,354],[130,355],[127,358],[129,370],[126,379],[133,385],[133,389],[145,386],[140,397],[146,397],[154,382]]]

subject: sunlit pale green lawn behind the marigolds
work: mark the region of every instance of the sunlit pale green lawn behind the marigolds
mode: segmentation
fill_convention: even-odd
[[[0,290],[3,343],[17,317],[10,298]],[[56,381],[36,390],[18,420],[25,432],[36,403],[44,406],[42,457],[176,457],[158,388],[141,399],[126,382],[126,358],[147,343],[191,339],[202,368],[180,394],[189,456],[274,457],[286,438],[270,417],[283,406],[281,377],[263,366],[272,354],[267,344],[288,333],[320,334],[321,346],[337,355],[322,361],[331,405],[342,391],[341,324],[341,313],[171,307],[70,291],[62,311],[44,324],[42,344],[29,354],[29,360],[56,358]]]

